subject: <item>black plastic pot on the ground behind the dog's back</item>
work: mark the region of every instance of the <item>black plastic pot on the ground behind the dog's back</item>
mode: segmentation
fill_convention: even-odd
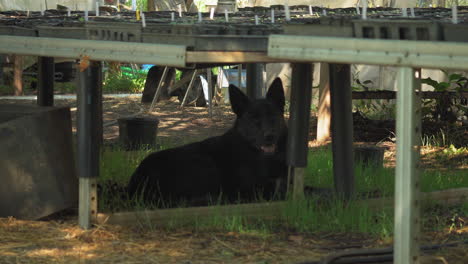
[[[120,118],[119,139],[126,150],[156,146],[159,120],[154,117]]]

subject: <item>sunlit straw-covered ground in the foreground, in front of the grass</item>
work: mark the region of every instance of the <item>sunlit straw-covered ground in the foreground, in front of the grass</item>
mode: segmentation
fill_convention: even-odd
[[[466,239],[467,234],[466,228],[452,235],[426,234],[423,241],[447,243]],[[349,233],[247,235],[111,225],[84,231],[74,220],[0,219],[1,263],[299,263],[344,249],[388,244]],[[431,252],[421,263],[466,260],[468,250],[462,245]]]

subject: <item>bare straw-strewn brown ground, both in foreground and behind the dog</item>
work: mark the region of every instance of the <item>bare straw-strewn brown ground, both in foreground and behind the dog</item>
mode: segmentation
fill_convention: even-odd
[[[229,106],[214,107],[210,119],[206,108],[180,109],[176,100],[158,103],[153,113],[147,113],[149,106],[140,104],[139,100],[138,97],[104,99],[107,144],[118,139],[116,119],[135,114],[156,116],[160,121],[158,141],[170,146],[221,134],[234,121]],[[18,102],[0,100],[0,103]],[[56,100],[56,105],[70,106],[75,120],[74,100]],[[386,143],[386,147],[389,150],[386,159],[391,164],[394,144]],[[468,229],[465,227],[455,232],[447,229],[446,232],[425,233],[422,240],[423,243],[439,244],[467,239]],[[345,249],[389,245],[391,241],[350,233],[266,235],[115,225],[82,230],[77,226],[76,215],[47,221],[0,218],[0,263],[299,263],[317,261]],[[421,263],[466,264],[468,246],[431,252],[423,256]]]

